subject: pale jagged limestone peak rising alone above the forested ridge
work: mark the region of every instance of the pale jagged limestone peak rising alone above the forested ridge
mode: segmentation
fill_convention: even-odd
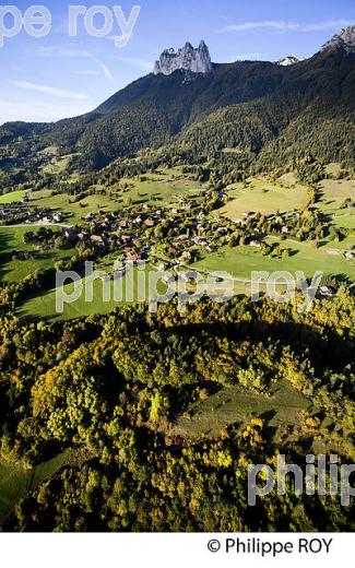
[[[165,49],[154,66],[154,74],[170,75],[178,69],[192,73],[209,73],[212,70],[212,63],[205,43],[201,42],[197,49],[189,43],[178,51],[173,48]]]

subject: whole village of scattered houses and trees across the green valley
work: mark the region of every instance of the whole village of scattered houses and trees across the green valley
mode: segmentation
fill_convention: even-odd
[[[32,196],[25,194],[21,201],[0,204],[0,222],[2,226],[28,226],[24,241],[37,250],[75,249],[82,260],[115,253],[121,262],[145,260],[162,271],[189,267],[225,246],[244,245],[259,249],[262,256],[286,259],[297,253],[289,248],[292,240],[313,241],[317,247],[317,239],[327,234],[334,242],[341,238],[313,210],[306,222],[299,211],[270,215],[246,211],[242,217],[232,221],[218,212],[224,202],[225,193],[210,189],[202,201],[176,196],[175,203],[159,208],[144,203],[109,212],[98,209],[83,215],[80,223],[71,224],[68,213],[37,208]],[[277,242],[268,241],[270,236],[277,237]],[[283,246],[286,240],[287,246]],[[353,250],[332,248],[327,252],[343,256],[348,262],[355,259]],[[34,257],[13,251],[12,258],[21,261]],[[331,286],[321,288],[324,296],[333,293]]]

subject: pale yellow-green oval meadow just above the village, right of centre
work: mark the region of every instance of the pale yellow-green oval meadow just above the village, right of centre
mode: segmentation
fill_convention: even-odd
[[[235,221],[242,218],[246,212],[272,213],[299,210],[307,201],[307,189],[303,186],[286,188],[281,184],[272,184],[263,178],[248,180],[248,187],[242,184],[229,186],[227,193],[232,199],[218,214]]]

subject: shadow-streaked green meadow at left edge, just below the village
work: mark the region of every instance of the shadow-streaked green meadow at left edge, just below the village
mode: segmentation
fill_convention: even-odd
[[[35,233],[38,227],[0,227],[0,282],[19,282],[36,270],[49,269],[58,260],[69,260],[73,250],[38,251],[36,246],[25,245],[23,236],[26,232]],[[12,251],[29,251],[34,260],[12,260]]]

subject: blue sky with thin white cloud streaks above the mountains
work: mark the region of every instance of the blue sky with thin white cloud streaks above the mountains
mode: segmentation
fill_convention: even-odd
[[[10,2],[9,2],[10,3]],[[0,47],[0,122],[48,121],[94,109],[116,91],[147,74],[161,51],[187,40],[205,39],[215,62],[275,60],[310,56],[335,32],[355,23],[355,0],[37,0],[51,12],[52,27],[35,38],[23,29]],[[126,47],[115,47],[114,28],[91,37],[78,19],[78,36],[69,37],[69,4],[87,9],[121,5],[128,19],[134,3],[141,12]],[[14,1],[22,13],[33,5]],[[103,17],[95,19],[100,28]],[[11,27],[8,15],[4,26]],[[1,26],[1,20],[0,20]],[[0,31],[2,27],[0,27]]]

